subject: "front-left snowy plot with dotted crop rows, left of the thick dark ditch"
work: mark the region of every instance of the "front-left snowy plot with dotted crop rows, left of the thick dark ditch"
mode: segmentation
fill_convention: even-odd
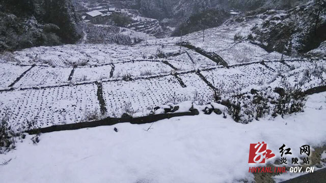
[[[75,123],[86,114],[99,112],[95,83],[87,85],[24,89],[1,92],[0,106],[4,115],[8,108],[11,123],[24,124],[37,120],[40,127]]]

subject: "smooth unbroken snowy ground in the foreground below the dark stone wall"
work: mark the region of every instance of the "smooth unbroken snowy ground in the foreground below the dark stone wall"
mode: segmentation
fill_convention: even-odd
[[[3,182],[241,182],[248,173],[250,143],[264,141],[280,159],[279,147],[326,143],[326,93],[309,96],[305,112],[285,118],[234,123],[230,116],[200,114],[150,124],[118,124],[26,136],[16,150],[0,155]],[[323,106],[320,109],[320,106]],[[320,109],[320,110],[319,110]],[[323,165],[325,166],[325,165]],[[289,173],[277,181],[288,178]],[[297,174],[300,175],[300,174]]]

